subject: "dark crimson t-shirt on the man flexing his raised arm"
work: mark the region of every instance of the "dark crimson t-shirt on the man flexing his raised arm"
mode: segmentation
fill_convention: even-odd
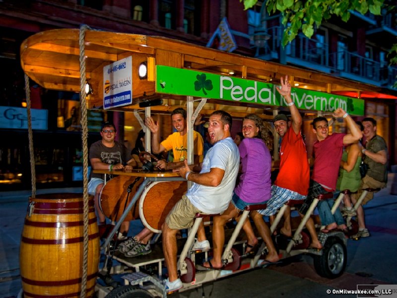
[[[343,153],[343,137],[345,134],[334,133],[327,139],[313,144],[314,167],[312,179],[331,189],[336,188],[339,164]]]

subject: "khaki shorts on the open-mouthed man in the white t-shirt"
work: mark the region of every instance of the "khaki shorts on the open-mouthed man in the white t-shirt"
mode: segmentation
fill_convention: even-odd
[[[187,196],[183,195],[167,215],[165,222],[171,229],[189,228],[193,225],[197,213],[201,213],[200,210],[193,206]]]

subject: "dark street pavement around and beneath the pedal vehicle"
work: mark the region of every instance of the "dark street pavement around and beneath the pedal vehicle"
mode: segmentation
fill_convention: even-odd
[[[349,240],[345,273],[329,280],[317,275],[311,256],[299,256],[290,264],[256,269],[208,283],[172,297],[325,297],[329,289],[355,290],[357,285],[397,285],[397,196],[390,195],[395,174],[388,187],[375,194],[365,206],[371,236]],[[76,192],[81,188],[38,190],[41,193]],[[0,298],[16,297],[21,290],[19,245],[29,191],[0,193]],[[139,230],[135,226],[135,230]],[[343,295],[356,297],[356,295]],[[396,296],[397,297],[397,296]]]

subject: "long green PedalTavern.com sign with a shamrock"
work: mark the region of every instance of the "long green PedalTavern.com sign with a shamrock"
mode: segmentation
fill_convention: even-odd
[[[162,65],[157,65],[156,70],[157,93],[286,106],[271,83]],[[291,96],[299,109],[332,112],[342,108],[352,115],[364,115],[362,99],[301,88],[292,88]]]

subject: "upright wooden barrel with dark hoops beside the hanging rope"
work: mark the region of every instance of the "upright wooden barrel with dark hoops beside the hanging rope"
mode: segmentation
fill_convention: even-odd
[[[83,196],[45,194],[29,199],[19,262],[24,297],[80,297],[83,264]],[[95,290],[99,234],[89,200],[86,297]]]

